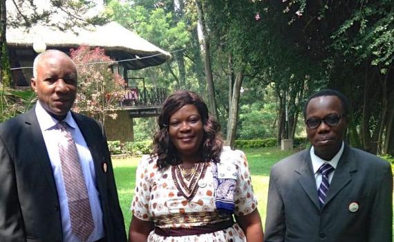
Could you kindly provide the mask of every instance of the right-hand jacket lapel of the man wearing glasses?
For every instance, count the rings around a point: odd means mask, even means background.
[[[334,198],[342,188],[350,183],[350,180],[352,180],[350,172],[353,171],[357,171],[357,165],[355,160],[350,156],[350,148],[345,145],[344,153],[339,159],[337,169],[335,169],[334,176],[330,183],[330,189],[328,190],[325,201],[326,205],[330,203],[332,198]]]

